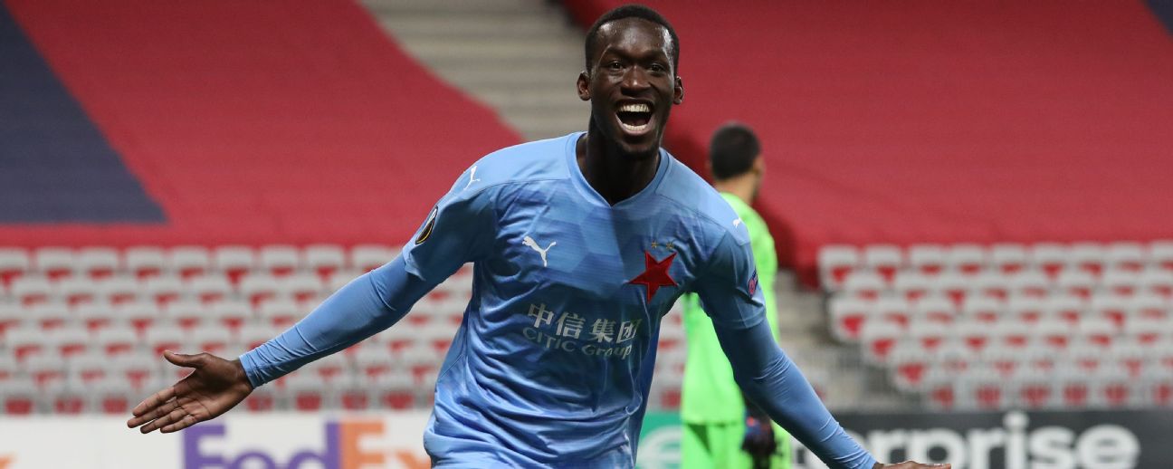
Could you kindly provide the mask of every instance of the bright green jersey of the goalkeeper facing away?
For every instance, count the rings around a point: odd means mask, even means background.
[[[741,223],[750,231],[750,247],[758,267],[758,285],[766,301],[766,319],[778,338],[778,311],[774,306],[774,274],[778,272],[778,254],[774,238],[766,223],[748,204],[732,193],[721,192],[725,202],[733,208]],[[680,395],[680,420],[685,423],[728,423],[745,421],[745,403],[741,390],[733,381],[733,368],[717,342],[713,321],[700,308],[696,294],[683,299],[684,328],[689,356],[684,367],[684,385]]]

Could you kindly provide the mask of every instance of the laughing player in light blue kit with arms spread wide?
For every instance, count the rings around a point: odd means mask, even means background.
[[[678,56],[656,12],[604,14],[577,80],[591,103],[588,131],[481,158],[399,257],[239,359],[165,353],[195,371],[127,424],[168,433],[218,416],[391,327],[472,261],[473,298],[423,435],[433,465],[633,467],[660,318],[696,291],[747,395],[829,464],[873,467],[774,342],[737,215],[660,149],[684,98]]]

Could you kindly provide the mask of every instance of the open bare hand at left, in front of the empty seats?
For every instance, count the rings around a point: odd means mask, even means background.
[[[142,426],[138,430],[144,434],[156,429],[162,433],[178,431],[219,416],[252,393],[252,383],[244,374],[240,360],[171,351],[163,352],[163,358],[171,363],[195,368],[195,372],[135,406],[131,410],[134,417],[127,421],[127,427]]]

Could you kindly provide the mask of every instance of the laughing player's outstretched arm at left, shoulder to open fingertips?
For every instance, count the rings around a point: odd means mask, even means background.
[[[206,353],[164,354],[168,361],[196,371],[143,400],[127,424],[141,426],[143,433],[169,433],[213,419],[240,403],[253,388],[399,321],[416,300],[461,265],[486,256],[493,242],[491,195],[469,190],[461,179],[440,199],[399,257],[354,279],[308,317],[239,360]]]

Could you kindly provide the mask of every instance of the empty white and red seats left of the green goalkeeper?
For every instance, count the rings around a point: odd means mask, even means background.
[[[0,414],[124,414],[187,373],[162,351],[236,356],[398,252],[327,244],[0,247],[8,266],[0,283]],[[260,388],[245,408],[430,406],[472,297],[470,273],[470,266],[457,271],[395,327]],[[683,359],[678,311],[660,338],[666,355]],[[679,382],[680,365],[658,375],[665,378],[657,389]],[[676,397],[656,405],[678,406],[678,386],[666,392]]]

